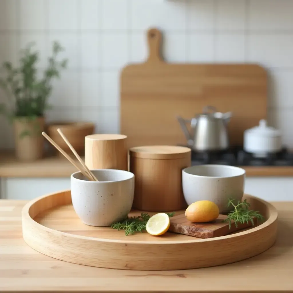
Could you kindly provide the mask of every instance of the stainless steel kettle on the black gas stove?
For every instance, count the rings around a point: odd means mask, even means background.
[[[227,124],[232,116],[231,112],[221,113],[212,106],[206,106],[203,113],[192,119],[177,119],[185,134],[188,145],[195,151],[220,151],[229,147]],[[191,131],[188,130],[190,124]]]

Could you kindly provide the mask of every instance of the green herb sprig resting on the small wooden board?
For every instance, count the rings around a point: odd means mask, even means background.
[[[251,222],[252,226],[254,226],[254,219],[257,221],[263,221],[264,217],[258,212],[254,210],[250,210],[250,204],[244,200],[243,202],[238,201],[237,204],[234,204],[235,201],[232,198],[229,198],[228,207],[231,205],[234,207],[234,210],[229,212],[228,217],[223,220],[223,222],[229,221],[229,229],[231,229],[232,221],[234,221],[236,228],[238,227],[238,223],[244,224]]]

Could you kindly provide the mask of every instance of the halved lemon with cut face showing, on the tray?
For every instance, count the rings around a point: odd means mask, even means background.
[[[146,230],[149,234],[159,236],[165,234],[170,227],[170,218],[165,213],[158,213],[149,218]]]

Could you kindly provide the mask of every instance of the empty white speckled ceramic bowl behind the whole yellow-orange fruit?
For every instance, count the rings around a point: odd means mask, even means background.
[[[214,202],[220,213],[229,212],[228,199],[241,200],[245,170],[226,165],[199,165],[182,170],[182,188],[188,205],[199,200]]]

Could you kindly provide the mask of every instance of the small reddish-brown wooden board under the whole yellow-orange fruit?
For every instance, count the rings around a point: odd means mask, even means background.
[[[180,214],[170,218],[170,228],[168,231],[197,238],[213,238],[225,236],[252,226],[251,222],[249,222],[249,224],[238,224],[236,228],[233,223],[231,229],[229,229],[229,222],[222,222],[226,217],[226,215],[220,214],[214,222],[193,223],[186,219],[185,214]]]

